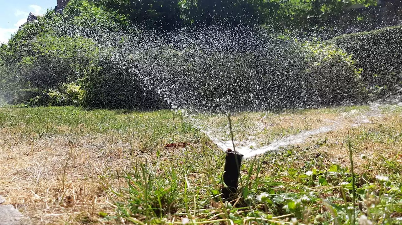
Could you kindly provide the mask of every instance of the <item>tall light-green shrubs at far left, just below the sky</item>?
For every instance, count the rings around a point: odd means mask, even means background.
[[[106,98],[109,95],[112,98],[119,90],[117,87],[127,89],[121,79],[113,80],[116,76],[99,74],[113,71],[107,69],[109,65],[105,63],[108,59],[100,62],[98,57],[100,49],[108,50],[121,41],[121,31],[125,25],[127,21],[124,15],[101,9],[86,0],[70,1],[63,14],[48,10],[37,21],[23,25],[8,44],[1,46],[3,94],[7,95],[10,103],[33,102],[35,105],[117,107],[117,104],[131,104],[113,100],[96,102],[100,96]],[[114,82],[103,84],[108,87],[114,85],[116,89],[105,87],[103,89],[108,92],[103,92],[100,88],[101,95],[91,96],[93,89],[86,92],[84,87],[88,88],[89,84],[94,83],[91,79],[94,74]],[[98,82],[102,83],[105,79]],[[92,83],[84,83],[88,80]],[[12,87],[10,84],[13,84]],[[122,90],[119,92],[122,93]],[[85,96],[86,93],[89,95]]]

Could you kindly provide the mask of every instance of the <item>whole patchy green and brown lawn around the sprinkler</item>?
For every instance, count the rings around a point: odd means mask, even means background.
[[[401,111],[233,115],[235,139],[256,148],[341,123],[243,160],[238,197],[224,202],[225,153],[200,129],[226,140],[226,117],[198,115],[193,125],[171,110],[0,108],[0,195],[33,224],[398,224]],[[356,123],[360,115],[367,121]]]

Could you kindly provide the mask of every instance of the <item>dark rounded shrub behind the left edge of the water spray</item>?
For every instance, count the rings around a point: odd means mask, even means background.
[[[104,52],[105,53],[105,52]],[[90,108],[166,108],[158,93],[129,72],[123,58],[100,56],[96,68],[82,79],[83,105]]]

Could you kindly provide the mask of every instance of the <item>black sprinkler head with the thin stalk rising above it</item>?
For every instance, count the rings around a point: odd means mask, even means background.
[[[228,125],[230,131],[230,138],[232,139],[233,150],[228,149],[225,157],[225,170],[224,170],[224,183],[226,186],[222,187],[222,199],[230,200],[237,192],[238,180],[240,177],[240,164],[242,163],[243,155],[236,152],[234,145],[232,120],[230,119],[230,112],[228,113]]]

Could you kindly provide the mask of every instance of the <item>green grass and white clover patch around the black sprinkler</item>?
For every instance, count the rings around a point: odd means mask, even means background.
[[[348,167],[324,163],[325,156],[315,159],[296,149],[266,154],[242,165],[242,193],[236,202],[224,203],[219,198],[224,162],[222,157],[211,155],[189,151],[178,163],[156,161],[148,162],[149,167],[145,163],[134,167],[125,176],[129,187],[112,189],[121,199],[117,201],[119,217],[150,224],[174,223],[173,218],[177,221],[178,217],[189,217],[195,223],[287,223],[295,217],[306,224],[351,224],[353,196]],[[299,167],[301,164],[304,166]],[[155,172],[161,168],[163,173]],[[369,174],[356,175],[356,205],[361,206],[356,207],[358,217],[367,213],[378,223],[398,222],[390,216],[402,211],[401,180],[395,173],[388,177],[381,183]],[[262,193],[267,197],[258,199]],[[371,207],[367,202],[373,202]]]

